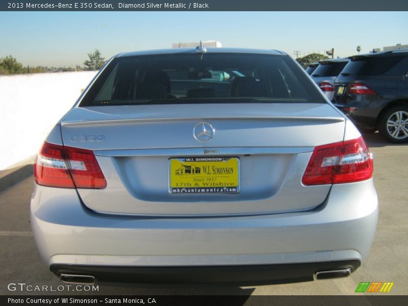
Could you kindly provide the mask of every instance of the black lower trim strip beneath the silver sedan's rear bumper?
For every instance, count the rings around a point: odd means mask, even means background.
[[[203,267],[123,267],[52,265],[61,274],[92,275],[95,283],[111,284],[239,284],[255,286],[273,283],[313,281],[316,272],[349,268],[354,272],[360,261],[338,261],[286,265],[203,266]]]

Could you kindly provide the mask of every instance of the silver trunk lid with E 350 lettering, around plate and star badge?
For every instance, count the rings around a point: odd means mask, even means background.
[[[323,115],[324,114],[324,115]],[[211,140],[194,126],[214,127]],[[303,186],[313,148],[343,140],[344,117],[328,104],[206,104],[74,108],[61,124],[64,145],[91,149],[105,189],[78,189],[103,213],[236,215],[314,208],[330,185]],[[237,159],[239,192],[169,192],[169,164],[186,157]]]

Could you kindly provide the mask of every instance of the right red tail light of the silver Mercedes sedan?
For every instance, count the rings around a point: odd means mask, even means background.
[[[373,159],[363,137],[315,147],[302,177],[303,185],[342,184],[368,180]]]

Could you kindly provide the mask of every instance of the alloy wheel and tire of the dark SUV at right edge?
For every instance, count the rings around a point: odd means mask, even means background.
[[[393,143],[408,141],[408,106],[395,106],[382,114],[378,130]]]

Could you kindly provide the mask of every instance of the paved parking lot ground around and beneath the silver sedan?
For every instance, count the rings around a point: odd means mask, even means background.
[[[143,285],[99,286],[97,292],[9,291],[9,283],[62,285],[42,263],[30,227],[33,177],[0,193],[0,294],[120,295],[352,295],[360,282],[394,282],[389,295],[408,294],[408,144],[394,145],[378,133],[365,138],[374,154],[374,182],[380,209],[369,258],[351,276],[340,279],[258,287]],[[371,294],[371,293],[365,293]],[[375,294],[375,293],[373,293]],[[378,293],[377,293],[378,294]],[[361,295],[361,293],[360,293]]]

